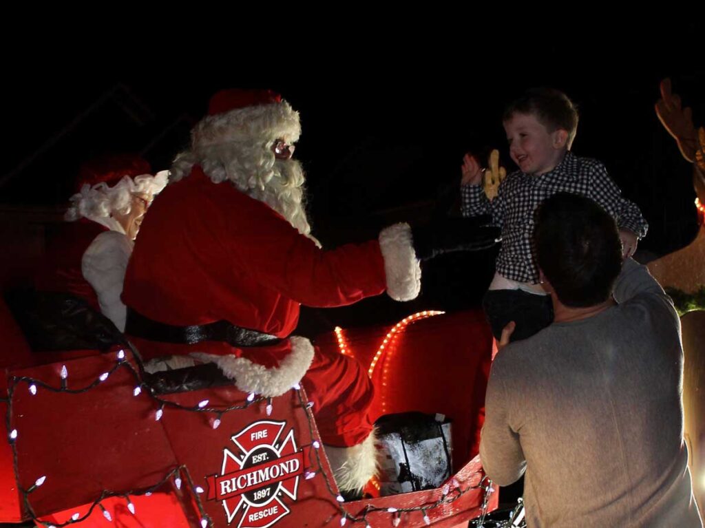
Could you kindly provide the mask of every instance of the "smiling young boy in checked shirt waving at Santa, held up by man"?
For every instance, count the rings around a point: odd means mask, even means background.
[[[534,89],[510,104],[503,116],[510,156],[519,167],[490,201],[482,188],[482,169],[465,155],[460,193],[462,215],[491,214],[502,230],[496,272],[483,306],[497,340],[510,321],[512,340],[525,339],[551,324],[551,299],[541,287],[534,262],[534,210],[547,197],[565,191],[594,199],[617,222],[624,257],[637,248],[648,225],[636,204],[624,199],[599,161],[570,152],[578,115],[570,99],[552,89]]]

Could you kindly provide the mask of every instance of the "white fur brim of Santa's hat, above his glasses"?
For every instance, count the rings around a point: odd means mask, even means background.
[[[299,113],[286,101],[259,104],[204,117],[191,131],[192,147],[200,150],[231,142],[269,144],[277,139],[295,143],[301,135]]]

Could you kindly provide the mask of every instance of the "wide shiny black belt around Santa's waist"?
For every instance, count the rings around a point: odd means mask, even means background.
[[[202,341],[221,341],[234,347],[257,347],[276,345],[281,339],[269,333],[257,330],[243,329],[228,321],[216,321],[209,324],[192,326],[173,326],[171,324],[153,321],[128,308],[125,322],[125,333],[137,338],[161,343],[193,345]]]

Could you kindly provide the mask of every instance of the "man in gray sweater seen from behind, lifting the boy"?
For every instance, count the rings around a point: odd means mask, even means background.
[[[555,319],[494,360],[487,474],[506,486],[526,473],[528,527],[702,527],[673,302],[644,266],[622,261],[613,219],[590,199],[554,195],[536,220]]]

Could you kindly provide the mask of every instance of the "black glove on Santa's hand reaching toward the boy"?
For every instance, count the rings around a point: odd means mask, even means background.
[[[419,260],[455,251],[479,251],[501,240],[500,229],[489,226],[489,216],[443,218],[412,228],[414,249]]]

